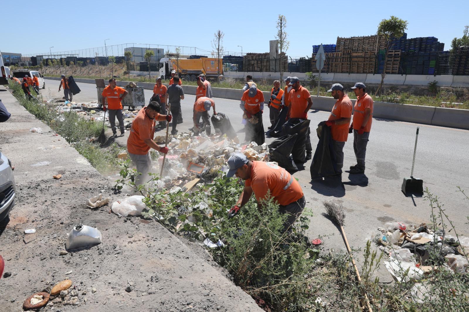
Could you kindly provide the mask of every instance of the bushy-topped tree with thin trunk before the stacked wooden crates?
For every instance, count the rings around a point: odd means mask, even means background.
[[[393,48],[393,39],[402,37],[404,35],[404,31],[407,29],[407,25],[408,21],[401,20],[400,18],[393,15],[389,19],[383,19],[381,22],[379,22],[378,39],[384,40],[386,54],[384,59],[383,72],[381,73],[381,82],[379,83],[378,89],[376,90],[376,94],[380,94],[380,92],[382,92],[384,78],[386,76],[387,54],[389,50],[392,50]]]

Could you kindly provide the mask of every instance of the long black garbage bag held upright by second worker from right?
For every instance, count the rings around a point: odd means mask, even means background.
[[[318,126],[319,142],[313,156],[310,172],[311,179],[332,177],[335,173],[335,160],[333,159],[333,140],[331,127]]]

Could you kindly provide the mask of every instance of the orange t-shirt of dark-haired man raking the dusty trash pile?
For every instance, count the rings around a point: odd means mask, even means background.
[[[158,119],[156,114],[155,119]],[[127,150],[130,154],[146,155],[150,150],[144,140],[153,139],[155,135],[155,119],[150,119],[146,115],[146,107],[138,111],[132,126],[130,127],[129,138],[127,139]]]

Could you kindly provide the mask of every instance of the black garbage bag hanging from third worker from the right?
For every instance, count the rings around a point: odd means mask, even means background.
[[[292,157],[295,163],[306,162],[306,135],[310,128],[309,119],[290,118],[282,126],[282,134],[298,134],[292,149]]]

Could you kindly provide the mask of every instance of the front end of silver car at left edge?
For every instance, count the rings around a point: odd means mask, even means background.
[[[15,191],[13,167],[7,156],[0,152],[0,221],[5,219],[15,206]]]

